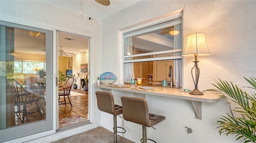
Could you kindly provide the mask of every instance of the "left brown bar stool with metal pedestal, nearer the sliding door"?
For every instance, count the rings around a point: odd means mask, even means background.
[[[96,91],[98,109],[100,111],[110,113],[114,115],[114,143],[117,142],[117,133],[125,133],[126,130],[122,127],[117,127],[116,115],[122,114],[122,106],[114,103],[114,98],[112,93]],[[117,128],[124,129],[124,132],[117,131]]]

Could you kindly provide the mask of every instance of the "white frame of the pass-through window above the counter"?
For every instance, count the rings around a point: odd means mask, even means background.
[[[144,53],[144,54],[136,54],[136,55],[124,55],[124,34],[128,33],[128,32],[134,32],[136,30],[140,30],[143,28],[147,28],[150,26],[154,26],[157,24],[161,24],[164,22],[168,22],[171,20],[174,20],[176,18],[181,18],[180,23],[177,22],[173,22],[174,25],[177,24],[181,24],[181,49],[174,49],[174,50],[166,50],[166,51],[159,51],[159,52],[150,52],[150,53]],[[173,25],[173,26],[174,26]],[[170,26],[170,25],[169,25]],[[160,29],[160,28],[159,28]],[[175,59],[181,59],[182,60],[182,67],[183,67],[183,57],[180,56],[175,56],[176,52],[182,52],[183,51],[183,9],[180,10],[176,10],[174,12],[171,12],[169,14],[166,14],[165,16],[160,16],[158,18],[153,18],[151,20],[147,20],[145,22],[141,22],[139,24],[135,24],[133,26],[128,26],[126,28],[120,29],[118,30],[118,35],[120,37],[120,40],[118,42],[118,45],[120,46],[120,56],[118,56],[118,58],[120,59],[120,81],[123,83],[124,82],[124,64],[125,63],[131,63],[131,62],[147,62],[147,61],[158,61],[158,60],[175,60]],[[157,58],[144,58],[144,59],[135,59],[135,60],[125,60],[128,58],[133,58],[133,57],[137,57],[137,56],[148,56],[148,55],[154,55],[154,54],[166,54],[166,53],[174,53],[174,56],[167,56],[167,57],[157,57]],[[181,69],[182,71],[182,77],[183,77],[183,69]],[[183,85],[183,81],[182,81],[182,85]]]

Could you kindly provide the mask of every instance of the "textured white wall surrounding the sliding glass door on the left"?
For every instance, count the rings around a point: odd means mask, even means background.
[[[37,27],[46,27],[50,29],[56,29],[64,32],[71,32],[74,34],[80,34],[82,36],[93,37],[92,38],[92,49],[90,49],[91,57],[94,60],[90,60],[90,69],[93,70],[90,75],[90,79],[94,79],[93,83],[96,83],[97,76],[100,75],[100,46],[101,46],[101,22],[94,18],[93,20],[87,20],[87,16],[80,13],[72,12],[70,10],[54,6],[48,2],[40,0],[1,0],[0,1],[0,18],[1,20],[8,20],[18,24],[27,23],[28,25],[33,24]],[[90,55],[89,55],[90,56]],[[84,62],[80,63],[84,64]],[[78,63],[79,67],[80,64]],[[78,66],[77,65],[77,66]],[[100,126],[100,111],[96,110],[97,101],[93,100],[94,93],[92,92],[93,86],[90,87],[89,95],[89,110],[94,111],[94,118],[90,118],[93,122],[90,125],[71,129],[49,135],[44,137],[45,133],[40,133],[39,139],[32,140],[32,143],[42,143],[56,141],[70,135],[81,133],[83,131]],[[98,89],[99,90],[99,89]],[[54,95],[55,97],[55,95]],[[58,101],[58,100],[57,100]],[[58,106],[58,105],[57,105]],[[95,109],[94,109],[95,108]],[[54,110],[55,107],[54,107]],[[89,111],[89,112],[90,112]],[[58,111],[57,111],[58,114]],[[91,113],[90,113],[91,114]],[[37,136],[38,137],[38,136]],[[24,140],[31,140],[34,136],[25,137]],[[23,140],[23,141],[24,141]],[[14,142],[20,142],[16,140]]]

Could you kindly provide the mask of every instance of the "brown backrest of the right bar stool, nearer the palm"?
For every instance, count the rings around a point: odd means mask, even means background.
[[[123,106],[123,117],[126,121],[148,126],[149,111],[145,99],[135,97],[121,97]]]

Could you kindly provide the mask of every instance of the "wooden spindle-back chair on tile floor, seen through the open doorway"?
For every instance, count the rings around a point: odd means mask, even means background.
[[[70,101],[70,91],[71,91],[73,83],[74,83],[74,77],[69,77],[68,80],[66,81],[66,83],[64,84],[62,91],[59,91],[59,105],[70,104],[72,107],[72,104]],[[61,96],[64,97],[64,101],[60,101]],[[66,102],[66,96],[68,97],[69,102]]]

